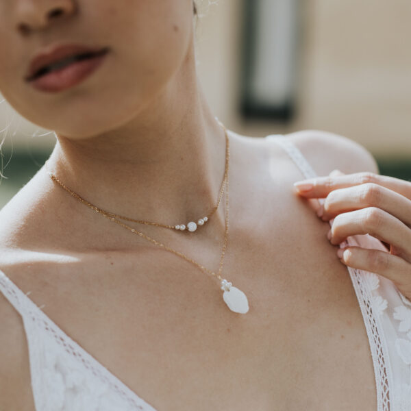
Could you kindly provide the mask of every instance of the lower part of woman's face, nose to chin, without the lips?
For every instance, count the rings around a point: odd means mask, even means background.
[[[34,55],[71,42],[110,51],[97,71],[66,90],[43,92],[25,81]],[[0,0],[0,92],[40,127],[91,136],[143,110],[190,45],[192,0]]]

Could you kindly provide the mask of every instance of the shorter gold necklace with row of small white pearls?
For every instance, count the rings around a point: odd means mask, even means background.
[[[108,214],[112,217],[116,217],[117,219],[121,219],[121,220],[133,221],[134,223],[139,223],[139,224],[156,225],[158,227],[177,229],[179,231],[184,231],[184,230],[187,229],[188,232],[195,232],[199,225],[200,226],[204,225],[204,223],[206,223],[210,219],[210,216],[212,216],[212,214],[214,214],[214,212],[216,212],[216,210],[220,206],[221,198],[223,197],[223,192],[224,192],[224,188],[225,188],[225,180],[227,178],[227,172],[228,172],[228,155],[227,155],[228,134],[227,134],[227,129],[225,128],[225,125],[223,125],[223,123],[221,123],[221,121],[219,121],[218,119],[216,119],[216,120],[221,125],[221,127],[223,127],[224,134],[225,134],[225,147],[226,147],[226,149],[225,149],[225,170],[224,170],[223,182],[221,182],[219,199],[217,200],[216,205],[212,208],[212,210],[206,216],[203,216],[201,219],[198,219],[197,223],[195,223],[194,221],[190,221],[189,223],[187,223],[187,225],[186,224],[169,225],[169,224],[163,224],[163,223],[155,223],[153,221],[130,219],[129,217],[121,216],[119,214],[114,214],[112,212],[102,210],[101,208],[98,208],[99,212]],[[49,172],[48,160],[46,161],[46,169]],[[60,182],[60,180],[57,177],[54,177],[54,179],[55,179],[56,182],[58,182],[60,185],[62,185],[62,183]],[[92,206],[94,208],[97,208],[94,205],[92,205]]]

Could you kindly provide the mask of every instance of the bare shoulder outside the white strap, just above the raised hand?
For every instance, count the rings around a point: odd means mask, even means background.
[[[286,134],[307,158],[318,175],[334,169],[345,174],[369,171],[379,174],[371,152],[351,138],[332,132],[308,129]]]

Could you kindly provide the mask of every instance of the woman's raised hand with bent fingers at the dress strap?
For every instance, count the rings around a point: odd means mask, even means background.
[[[387,243],[389,252],[350,246],[337,254],[348,266],[390,279],[411,299],[411,182],[369,172],[335,171],[297,182],[295,187],[307,199],[325,199],[317,215],[332,223],[328,236],[333,245],[356,234],[370,234]]]

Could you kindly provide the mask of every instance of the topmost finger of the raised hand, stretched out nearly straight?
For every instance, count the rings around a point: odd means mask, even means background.
[[[369,171],[336,175],[334,177],[329,175],[325,177],[314,177],[295,182],[294,186],[297,192],[304,197],[325,198],[329,192],[337,188],[358,186],[366,183],[379,184],[411,200],[411,182],[388,175],[370,173]],[[306,186],[306,189],[304,189],[304,186]]]

